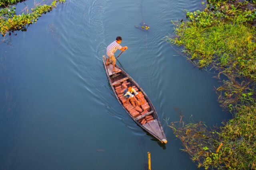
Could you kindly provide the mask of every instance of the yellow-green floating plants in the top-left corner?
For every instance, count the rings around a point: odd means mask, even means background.
[[[27,26],[36,23],[38,18],[46,12],[56,8],[57,3],[63,3],[65,0],[54,0],[49,5],[43,4],[26,9],[22,14],[16,14],[14,4],[22,0],[0,0],[0,32],[3,36],[16,30],[26,31]]]

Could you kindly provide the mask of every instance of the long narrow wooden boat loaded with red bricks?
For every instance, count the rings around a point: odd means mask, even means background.
[[[106,65],[106,57],[103,55],[103,63],[106,70],[106,74],[108,76],[108,80],[110,82],[111,88],[118,100],[118,102],[122,105],[128,115],[145,131],[150,133],[156,139],[158,139],[161,143],[167,143],[164,130],[159,121],[158,114],[156,113],[156,109],[150,102],[146,93],[142,90],[142,88],[119,66],[116,65],[118,71],[112,72],[112,64]],[[140,100],[138,95],[135,97],[138,98],[138,101],[141,103],[141,106],[138,103],[130,102],[123,97],[123,91],[127,88],[127,85],[131,84],[132,88],[136,90],[140,95],[140,98],[144,101]]]

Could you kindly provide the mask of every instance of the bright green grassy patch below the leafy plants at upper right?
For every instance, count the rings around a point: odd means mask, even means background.
[[[204,28],[183,22],[177,25],[175,33],[176,37],[166,37],[166,41],[183,46],[188,59],[198,67],[219,67],[256,80],[255,27],[221,22]]]

